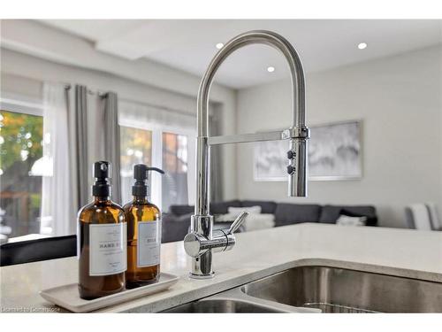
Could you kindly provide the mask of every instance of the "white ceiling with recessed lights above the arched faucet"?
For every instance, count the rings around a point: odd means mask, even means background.
[[[118,57],[150,60],[201,76],[215,55],[217,42],[252,29],[284,35],[298,50],[307,72],[382,58],[442,42],[442,20],[378,19],[239,19],[126,20],[45,19],[43,23],[95,43],[95,49]],[[358,50],[359,42],[367,42]],[[268,73],[266,68],[276,70]],[[233,53],[216,81],[234,89],[287,76],[276,50],[251,45]]]

